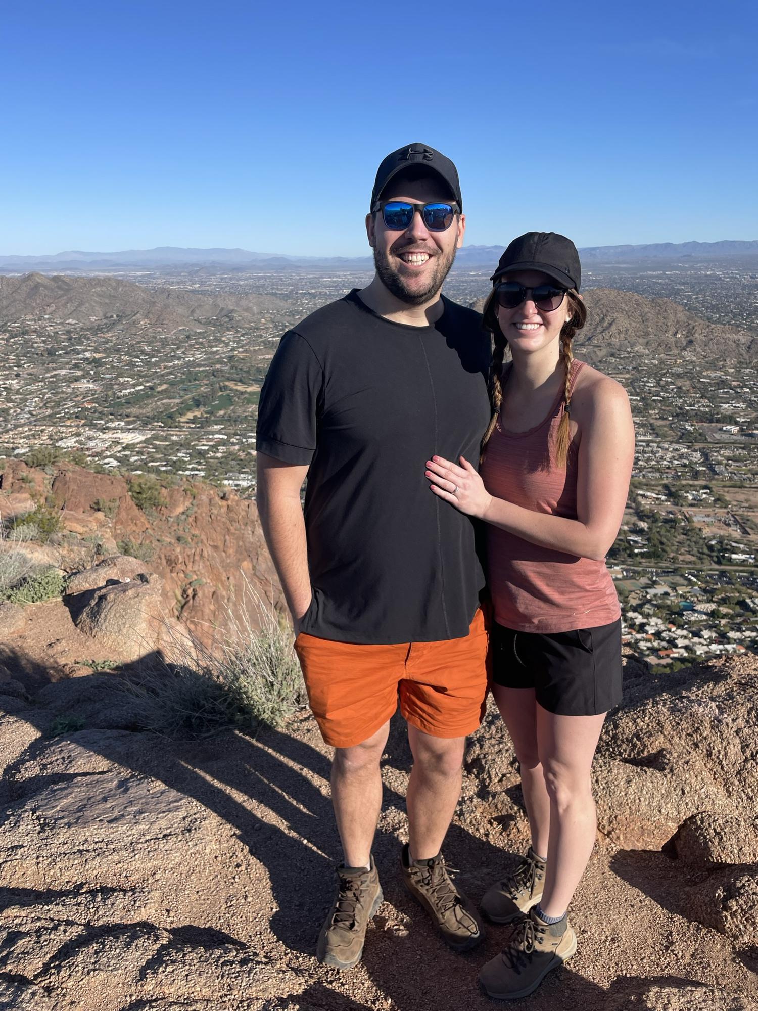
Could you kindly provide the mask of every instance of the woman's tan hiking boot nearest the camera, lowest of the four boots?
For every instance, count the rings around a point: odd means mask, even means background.
[[[510,927],[506,947],[479,973],[488,997],[514,1001],[537,990],[551,969],[576,951],[576,934],[564,916],[544,923],[533,909]]]

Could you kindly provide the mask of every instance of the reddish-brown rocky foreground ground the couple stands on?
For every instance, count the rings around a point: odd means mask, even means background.
[[[400,884],[401,721],[375,847],[385,902],[363,962],[340,974],[313,957],[338,840],[328,749],[309,715],[255,736],[137,732],[120,675],[74,662],[91,646],[65,605],[31,609],[0,660],[0,1009],[493,1006],[476,974],[504,928],[456,955]],[[71,662],[48,662],[55,648]],[[628,661],[595,761],[579,948],[524,1007],[758,1008],[756,724],[755,658],[665,676]],[[512,750],[490,710],[468,749],[448,862],[478,899],[526,844]]]

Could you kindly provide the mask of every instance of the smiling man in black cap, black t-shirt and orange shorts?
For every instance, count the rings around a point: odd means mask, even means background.
[[[452,947],[483,936],[441,848],[484,710],[484,578],[473,524],[424,478],[431,454],[478,459],[489,421],[489,340],[477,313],[440,293],[462,211],[449,159],[421,144],[388,155],[366,217],[376,276],[284,335],[261,393],[261,522],[336,748],[344,862],[317,956],[340,969],[360,960],[382,902],[371,845],[398,697],[413,754],[403,881]]]

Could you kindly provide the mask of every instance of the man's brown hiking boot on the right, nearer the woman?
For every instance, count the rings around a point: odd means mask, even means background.
[[[405,888],[423,906],[454,951],[467,951],[483,939],[484,926],[474,905],[450,880],[442,853],[431,860],[410,863],[405,843],[401,864]]]

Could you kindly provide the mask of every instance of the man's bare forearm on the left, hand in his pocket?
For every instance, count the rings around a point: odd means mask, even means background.
[[[311,599],[305,520],[300,504],[300,488],[308,465],[283,463],[258,453],[257,469],[258,514],[297,635]]]

